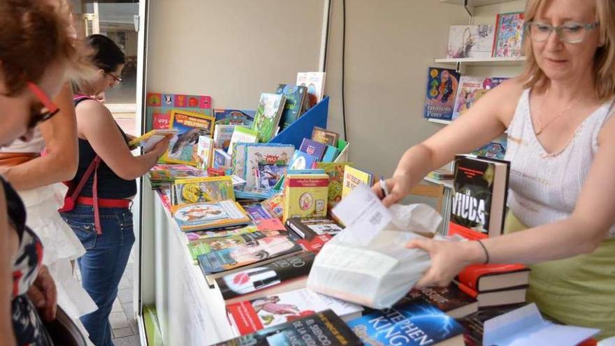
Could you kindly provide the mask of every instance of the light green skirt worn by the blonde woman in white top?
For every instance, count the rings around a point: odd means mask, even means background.
[[[508,212],[506,233],[526,228]],[[601,329],[598,339],[615,336],[615,239],[603,241],[591,254],[530,268],[528,302],[564,324]]]

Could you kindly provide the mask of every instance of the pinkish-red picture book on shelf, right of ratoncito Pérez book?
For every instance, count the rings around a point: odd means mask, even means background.
[[[457,88],[452,120],[457,119],[466,110],[468,110],[472,104],[478,101],[478,99],[480,99],[484,94],[489,92],[489,90],[498,86],[501,82],[507,79],[508,78],[484,78],[462,75],[459,80],[459,87]]]

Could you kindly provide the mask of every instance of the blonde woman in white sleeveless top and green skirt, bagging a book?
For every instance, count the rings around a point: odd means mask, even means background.
[[[431,254],[417,285],[448,284],[473,263],[531,264],[529,301],[561,322],[614,336],[615,1],[528,0],[525,18],[524,73],[407,150],[383,201],[395,203],[454,154],[507,130],[507,234],[408,244]]]

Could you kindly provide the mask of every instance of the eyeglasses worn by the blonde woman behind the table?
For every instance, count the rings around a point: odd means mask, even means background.
[[[589,31],[600,27],[599,22],[591,24],[565,22],[557,27],[541,22],[527,22],[525,25],[533,41],[547,41],[551,32],[555,31],[560,41],[565,43],[581,43],[586,38]]]

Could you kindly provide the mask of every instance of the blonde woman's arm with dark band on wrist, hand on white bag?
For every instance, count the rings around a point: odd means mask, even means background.
[[[600,131],[599,149],[581,194],[567,219],[482,240],[493,263],[533,264],[593,252],[615,224],[615,117]],[[420,286],[448,284],[461,268],[485,260],[475,242],[417,240],[408,244],[431,254],[432,266]]]

